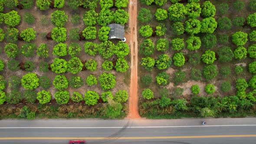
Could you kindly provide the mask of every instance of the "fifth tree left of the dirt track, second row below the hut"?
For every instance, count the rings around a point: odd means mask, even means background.
[[[68,65],[65,59],[55,58],[50,65],[53,72],[56,74],[64,73],[68,69]]]

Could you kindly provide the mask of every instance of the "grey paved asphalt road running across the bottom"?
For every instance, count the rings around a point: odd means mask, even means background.
[[[256,144],[256,118],[0,121],[0,144],[68,144],[74,139],[88,144]]]

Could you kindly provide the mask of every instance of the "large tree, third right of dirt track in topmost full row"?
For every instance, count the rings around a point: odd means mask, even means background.
[[[185,15],[187,14],[187,10],[181,3],[172,4],[171,7],[168,8],[169,11],[169,19],[177,22],[185,19]]]

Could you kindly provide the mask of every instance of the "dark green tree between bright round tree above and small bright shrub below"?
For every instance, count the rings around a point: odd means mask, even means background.
[[[203,67],[203,77],[209,81],[218,75],[217,67],[215,65],[205,65]]]

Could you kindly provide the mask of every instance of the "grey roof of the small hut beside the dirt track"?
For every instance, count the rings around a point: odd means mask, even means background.
[[[112,23],[107,25],[110,27],[110,32],[108,34],[108,39],[124,39],[125,37],[125,26],[117,23]]]

